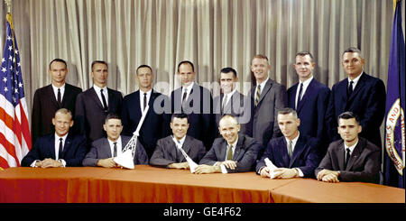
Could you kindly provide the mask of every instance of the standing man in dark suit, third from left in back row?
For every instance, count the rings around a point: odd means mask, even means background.
[[[166,135],[167,125],[163,117],[163,105],[167,104],[168,97],[152,89],[153,73],[151,67],[141,65],[136,70],[137,81],[140,89],[129,94],[123,99],[121,119],[123,122],[123,134],[132,136],[140,122],[146,106],[149,106],[148,113],[143,120],[140,129],[139,141],[143,144],[148,158],[151,159],[156,142]],[[161,102],[158,106],[156,102]]]

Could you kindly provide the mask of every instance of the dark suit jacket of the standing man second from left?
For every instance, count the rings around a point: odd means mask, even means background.
[[[80,93],[76,100],[75,124],[78,124],[80,134],[86,134],[88,143],[106,136],[103,130],[108,113],[121,114],[123,96],[121,92],[107,88],[108,110],[103,109],[100,99],[93,87]]]

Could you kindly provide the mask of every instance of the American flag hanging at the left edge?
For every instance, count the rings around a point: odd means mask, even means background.
[[[5,51],[0,66],[0,167],[18,167],[31,149],[28,108],[13,20],[7,14]]]

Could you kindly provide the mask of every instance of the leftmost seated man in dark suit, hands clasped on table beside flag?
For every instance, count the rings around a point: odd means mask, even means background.
[[[52,118],[55,133],[39,137],[21,161],[23,167],[78,167],[86,154],[86,137],[69,133],[72,113],[59,109]]]

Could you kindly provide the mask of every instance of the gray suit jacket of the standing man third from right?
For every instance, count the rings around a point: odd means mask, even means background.
[[[251,88],[253,100],[255,88]],[[287,105],[286,87],[269,78],[261,92],[258,105],[254,108],[253,137],[256,141],[266,146],[272,138],[282,135],[277,124],[277,111]]]

